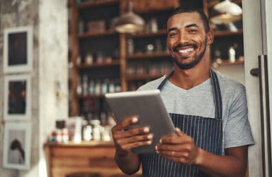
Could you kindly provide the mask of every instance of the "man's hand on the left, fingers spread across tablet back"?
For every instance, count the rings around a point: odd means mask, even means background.
[[[153,134],[150,134],[150,128],[129,128],[138,122],[137,117],[124,119],[117,123],[112,129],[113,141],[119,154],[127,154],[134,147],[150,145],[152,143]]]

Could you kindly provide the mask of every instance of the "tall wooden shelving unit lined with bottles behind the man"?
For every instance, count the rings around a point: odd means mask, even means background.
[[[211,16],[212,7],[220,2],[171,0],[166,1],[168,5],[160,5],[165,1],[156,1],[155,7],[152,5],[154,1],[134,1],[134,11],[144,18],[146,29],[132,35],[118,34],[113,29],[117,17],[126,12],[127,0],[70,0],[70,115],[82,115],[86,119],[100,119],[100,113],[110,115],[104,102],[105,92],[133,91],[169,73],[173,62],[166,47],[166,21],[171,10],[179,4],[189,5],[203,8]],[[239,0],[234,2],[241,5]],[[142,9],[143,5],[154,9]],[[243,64],[243,60],[235,63],[227,60],[228,49],[233,45],[236,46],[236,58],[243,58],[242,28],[230,32],[216,27],[214,34],[214,44],[210,47],[211,64]],[[220,63],[216,60],[218,51],[222,59]],[[87,84],[82,84],[84,80]],[[93,91],[96,88],[90,86],[93,84],[108,87],[96,93]],[[110,85],[114,88],[110,89]]]

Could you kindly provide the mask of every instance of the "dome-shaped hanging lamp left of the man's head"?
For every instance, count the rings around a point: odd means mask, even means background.
[[[133,12],[133,2],[128,1],[128,12],[122,14],[115,23],[115,30],[120,33],[136,33],[144,29],[144,19]]]

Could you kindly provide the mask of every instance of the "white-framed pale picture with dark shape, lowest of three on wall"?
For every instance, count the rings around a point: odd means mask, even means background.
[[[31,158],[31,124],[5,123],[3,167],[29,169]]]

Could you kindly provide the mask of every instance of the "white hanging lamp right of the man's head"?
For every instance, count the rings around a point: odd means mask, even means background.
[[[242,19],[242,8],[229,0],[214,5],[214,10],[220,14],[213,16],[210,21],[218,25],[229,25],[229,23]]]

